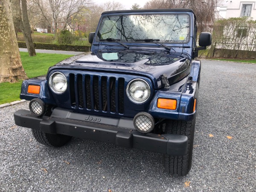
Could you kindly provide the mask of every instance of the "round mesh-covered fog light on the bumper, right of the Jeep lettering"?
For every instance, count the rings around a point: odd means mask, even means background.
[[[154,129],[154,118],[149,113],[140,112],[134,116],[134,127],[140,133],[149,133]]]

